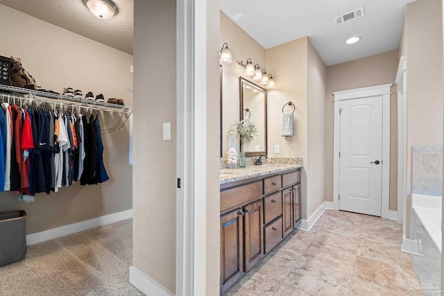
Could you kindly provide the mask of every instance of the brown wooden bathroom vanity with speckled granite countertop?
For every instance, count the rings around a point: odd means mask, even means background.
[[[296,229],[301,167],[221,169],[221,294]]]

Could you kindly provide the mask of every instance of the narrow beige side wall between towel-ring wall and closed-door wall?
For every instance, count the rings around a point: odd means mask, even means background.
[[[308,45],[307,61],[307,217],[325,201],[325,87],[327,67]]]

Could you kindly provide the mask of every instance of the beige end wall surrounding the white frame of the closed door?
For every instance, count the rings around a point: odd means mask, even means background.
[[[325,93],[325,192],[326,200],[333,201],[333,138],[334,105],[333,92],[374,85],[395,83],[398,71],[398,51],[389,51],[327,67]],[[391,88],[390,119],[390,209],[398,205],[398,107],[396,87]]]

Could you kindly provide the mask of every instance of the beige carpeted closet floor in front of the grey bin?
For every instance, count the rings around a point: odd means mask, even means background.
[[[143,295],[129,284],[133,220],[28,246],[26,259],[0,267],[0,296]]]

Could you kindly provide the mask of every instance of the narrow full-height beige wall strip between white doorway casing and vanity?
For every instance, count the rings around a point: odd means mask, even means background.
[[[219,295],[219,0],[207,0],[207,228],[206,295]],[[233,65],[234,66],[234,65]]]

